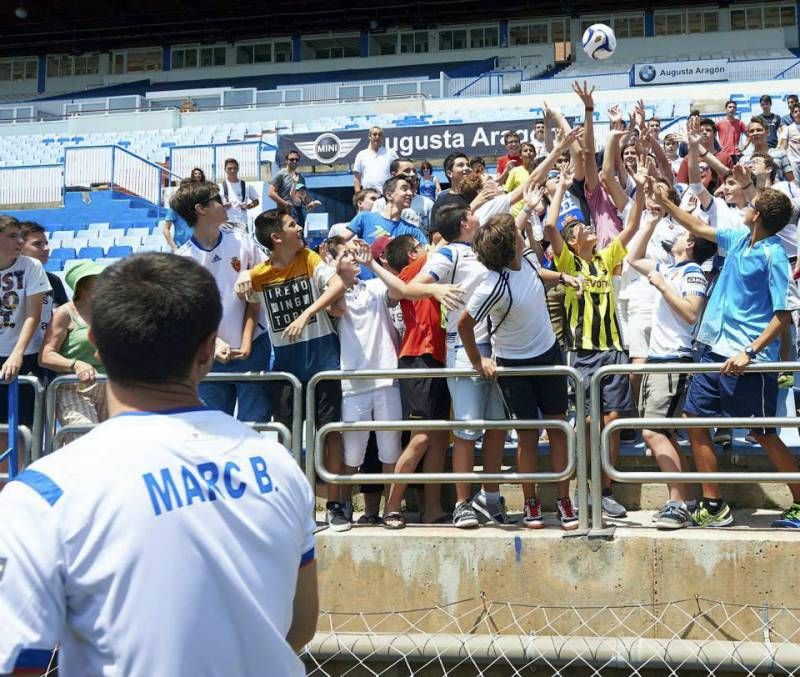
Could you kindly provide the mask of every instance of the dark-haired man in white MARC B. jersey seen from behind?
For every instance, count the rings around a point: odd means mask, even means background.
[[[202,406],[221,317],[188,258],[98,278],[111,418],[0,492],[0,673],[58,644],[64,677],[305,674],[314,498],[284,447]]]

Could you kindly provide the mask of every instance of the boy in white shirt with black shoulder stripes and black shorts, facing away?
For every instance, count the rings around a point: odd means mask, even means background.
[[[485,379],[495,376],[495,362],[481,353],[476,327],[487,320],[494,338],[494,353],[501,367],[563,364],[561,349],[547,310],[546,283],[578,287],[575,278],[545,270],[536,255],[525,249],[522,234],[510,214],[493,216],[475,234],[472,246],[478,260],[489,269],[475,289],[458,322],[458,333],[472,366]],[[565,376],[507,376],[499,378],[506,404],[518,419],[567,418]],[[536,472],[537,430],[517,430],[517,468]],[[558,428],[548,429],[554,470],[567,464],[567,440]],[[569,500],[569,480],[559,482],[556,510],[563,529],[575,529],[578,518]],[[523,524],[540,529],[542,504],[531,483],[522,485],[525,497]]]

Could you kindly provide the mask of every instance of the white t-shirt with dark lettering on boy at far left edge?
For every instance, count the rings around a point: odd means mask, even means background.
[[[50,290],[44,267],[30,256],[18,256],[8,268],[0,270],[0,355],[8,357],[17,345],[28,297]],[[37,351],[28,344],[25,354]]]

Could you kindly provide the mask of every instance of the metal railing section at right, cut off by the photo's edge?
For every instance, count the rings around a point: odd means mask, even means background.
[[[781,426],[800,426],[800,417],[797,416],[768,416],[768,417],[710,417],[710,418],[620,418],[607,426],[602,426],[603,420],[603,399],[600,388],[603,379],[615,374],[699,374],[719,372],[721,363],[702,362],[671,362],[661,364],[620,364],[607,365],[600,367],[594,374],[589,387],[589,400],[591,402],[591,423],[590,423],[590,443],[591,443],[591,483],[592,483],[592,529],[601,530],[603,528],[602,519],[602,495],[600,486],[602,483],[601,472],[605,472],[608,477],[615,482],[625,482],[629,484],[643,484],[645,482],[674,482],[674,483],[697,483],[697,482],[724,482],[730,484],[748,484],[754,482],[765,483],[786,483],[800,482],[800,472],[620,472],[611,463],[611,436],[623,428],[659,430],[664,428],[752,428],[752,427],[781,427]],[[755,363],[749,365],[746,373],[761,372],[794,372],[800,369],[797,362],[769,362]],[[581,505],[586,505],[582,503]],[[585,511],[581,511],[585,512]]]

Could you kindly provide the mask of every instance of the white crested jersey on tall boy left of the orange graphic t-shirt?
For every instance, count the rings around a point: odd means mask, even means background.
[[[217,244],[211,249],[204,249],[192,236],[178,248],[176,253],[194,259],[214,276],[222,299],[222,321],[219,323],[217,336],[231,348],[240,348],[247,301],[241,301],[234,293],[233,287],[241,271],[254,268],[264,261],[264,256],[256,247],[255,240],[239,231],[224,230],[220,231]],[[253,338],[263,334],[266,327],[264,308],[259,305],[258,325]],[[264,368],[267,368],[266,365]]]

